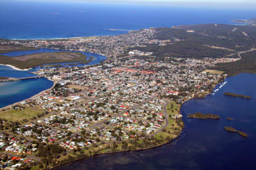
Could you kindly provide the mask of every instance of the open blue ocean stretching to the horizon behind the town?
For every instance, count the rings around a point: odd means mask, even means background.
[[[59,13],[57,15],[53,13]],[[71,2],[0,1],[0,38],[49,39],[117,35],[149,27],[180,24],[228,23],[255,18],[253,9],[100,5]]]

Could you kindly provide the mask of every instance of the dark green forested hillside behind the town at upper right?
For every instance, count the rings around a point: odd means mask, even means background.
[[[173,28],[154,28],[152,39],[171,42],[164,46],[148,44],[147,47],[133,47],[144,52],[153,52],[159,60],[164,57],[224,57],[238,51],[255,48],[255,26],[234,26],[228,24],[198,24]]]

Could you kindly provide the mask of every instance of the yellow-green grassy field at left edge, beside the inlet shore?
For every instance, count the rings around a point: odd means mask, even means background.
[[[42,113],[42,111],[32,109],[10,109],[7,111],[1,111],[0,118],[4,118],[10,121],[22,121],[23,119],[31,119],[34,116],[36,117],[38,113]]]

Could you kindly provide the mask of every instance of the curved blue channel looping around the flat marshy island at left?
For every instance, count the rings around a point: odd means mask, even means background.
[[[61,52],[61,51],[78,52],[78,51],[70,51],[70,50],[40,48],[40,49],[30,50],[30,51],[14,51],[14,52],[2,53],[1,55],[16,57],[16,56],[30,55],[30,54],[34,54],[34,53]],[[107,59],[107,57],[102,56],[102,55],[98,55],[96,53],[90,53],[90,52],[80,52],[80,53],[83,53],[85,56],[87,56],[88,57],[87,60],[90,59],[89,57],[94,57],[95,59],[90,61],[90,63],[78,64],[77,66],[98,64],[98,63],[100,63],[101,60]],[[1,57],[0,57],[0,59],[1,59]],[[65,65],[65,64],[69,64],[69,63],[57,63],[57,64]],[[47,64],[44,64],[44,65],[47,65]],[[38,68],[39,67],[35,67],[34,69],[31,69],[30,71],[35,71]]]

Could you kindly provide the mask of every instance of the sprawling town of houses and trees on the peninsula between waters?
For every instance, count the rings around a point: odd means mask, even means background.
[[[108,56],[96,65],[44,67],[51,89],[0,111],[0,168],[53,168],[118,151],[161,146],[184,127],[180,107],[211,94],[227,76],[211,69],[240,58],[165,57],[129,48],[159,46],[155,29],[67,40],[1,40],[1,45],[87,51]]]

